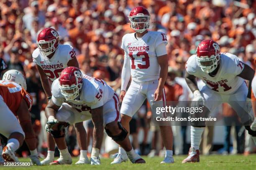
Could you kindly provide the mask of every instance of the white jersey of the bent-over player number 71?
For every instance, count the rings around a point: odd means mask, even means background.
[[[242,72],[244,64],[236,55],[228,52],[220,54],[220,67],[215,77],[211,77],[201,70],[196,57],[196,55],[192,55],[187,60],[187,72],[200,78],[215,92],[225,95],[232,94],[242,83],[245,83],[243,78],[237,76]]]

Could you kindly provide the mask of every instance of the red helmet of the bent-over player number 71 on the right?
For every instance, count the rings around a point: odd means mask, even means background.
[[[220,46],[213,40],[203,40],[197,47],[197,62],[202,71],[210,73],[220,63]]]

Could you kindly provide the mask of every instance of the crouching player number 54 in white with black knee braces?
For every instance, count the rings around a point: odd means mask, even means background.
[[[63,104],[64,103],[64,104]],[[119,98],[104,80],[82,75],[77,67],[67,67],[52,84],[52,98],[46,107],[48,122],[46,131],[54,134],[60,150],[67,148],[64,127],[92,118],[94,123],[91,165],[100,165],[99,152],[103,138],[103,127],[116,143],[125,148],[132,163],[145,162],[131,148],[128,132],[120,123]],[[72,158],[63,152],[65,163]],[[54,163],[62,164],[56,160]]]

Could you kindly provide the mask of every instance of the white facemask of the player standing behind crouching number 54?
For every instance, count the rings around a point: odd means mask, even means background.
[[[55,43],[55,39],[51,41],[40,40],[39,42],[36,42],[37,47],[43,56],[48,56],[56,50],[54,47]]]

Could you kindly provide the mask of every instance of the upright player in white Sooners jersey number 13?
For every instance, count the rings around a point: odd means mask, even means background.
[[[146,8],[138,6],[131,10],[128,16],[131,28],[135,33],[123,36],[121,48],[124,50],[124,65],[120,100],[121,123],[129,130],[129,122],[135,112],[147,98],[152,105],[153,101],[165,103],[164,83],[167,77],[168,59],[166,52],[167,39],[163,32],[148,31],[150,15]],[[132,77],[131,85],[126,92],[128,82]],[[172,157],[172,128],[160,126],[161,135],[166,148],[165,158],[161,163],[174,163]],[[112,162],[121,163],[127,160],[123,148]]]

